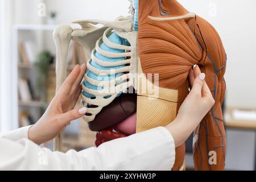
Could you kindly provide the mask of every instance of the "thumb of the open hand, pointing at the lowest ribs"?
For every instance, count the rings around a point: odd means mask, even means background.
[[[60,119],[62,122],[64,122],[66,124],[72,120],[81,118],[86,113],[86,110],[87,110],[86,107],[81,107],[80,109],[70,110],[67,113],[61,114]]]

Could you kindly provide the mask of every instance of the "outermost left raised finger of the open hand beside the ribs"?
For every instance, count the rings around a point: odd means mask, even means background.
[[[60,94],[63,94],[63,93],[69,94],[79,74],[80,74],[80,67],[79,65],[76,65],[75,68],[73,68],[72,72],[69,74],[69,76],[66,78],[66,80],[63,82],[63,85],[61,85]]]

